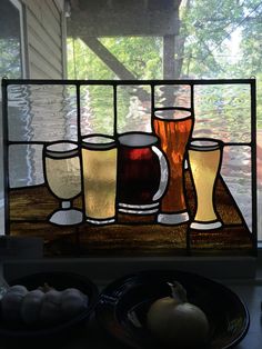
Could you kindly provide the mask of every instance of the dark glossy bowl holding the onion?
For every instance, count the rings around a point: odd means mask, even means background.
[[[95,308],[100,326],[130,348],[164,349],[147,328],[147,312],[154,300],[170,296],[167,282],[174,280],[185,288],[188,300],[200,307],[209,319],[205,348],[233,348],[244,338],[250,317],[241,299],[219,282],[178,270],[143,271],[110,283]]]

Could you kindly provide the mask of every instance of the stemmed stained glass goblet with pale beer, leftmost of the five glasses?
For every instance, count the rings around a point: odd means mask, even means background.
[[[44,178],[49,190],[60,201],[49,221],[59,226],[82,222],[82,211],[72,207],[81,192],[80,157],[78,144],[59,141],[43,147]]]

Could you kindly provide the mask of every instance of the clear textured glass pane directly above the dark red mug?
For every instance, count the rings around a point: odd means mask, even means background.
[[[118,87],[118,132],[151,132],[151,130],[150,87]]]

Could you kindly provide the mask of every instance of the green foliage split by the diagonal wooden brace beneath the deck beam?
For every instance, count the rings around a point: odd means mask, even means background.
[[[161,38],[102,38],[101,43],[125,66],[137,79],[161,78]],[[117,79],[80,39],[68,39],[68,76],[77,79]]]

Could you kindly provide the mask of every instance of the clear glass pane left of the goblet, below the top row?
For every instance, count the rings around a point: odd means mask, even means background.
[[[44,182],[42,146],[13,144],[9,147],[10,188],[30,187]]]

